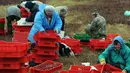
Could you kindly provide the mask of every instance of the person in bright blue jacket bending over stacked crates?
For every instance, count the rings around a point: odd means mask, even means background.
[[[54,30],[59,33],[61,27],[62,21],[60,19],[59,14],[56,12],[53,6],[47,5],[43,9],[43,11],[40,10],[39,12],[37,12],[34,19],[34,25],[32,26],[28,35],[28,40],[32,43],[33,47],[36,44],[36,41],[33,37],[37,32],[46,32],[46,30]]]

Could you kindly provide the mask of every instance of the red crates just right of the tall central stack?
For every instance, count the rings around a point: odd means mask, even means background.
[[[68,45],[75,54],[80,54],[82,52],[82,48],[80,47],[80,40],[66,38],[62,39],[61,42]]]

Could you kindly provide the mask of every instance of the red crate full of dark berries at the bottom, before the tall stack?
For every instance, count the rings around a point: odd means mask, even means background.
[[[62,69],[62,63],[47,60],[31,68],[31,73],[54,73]]]

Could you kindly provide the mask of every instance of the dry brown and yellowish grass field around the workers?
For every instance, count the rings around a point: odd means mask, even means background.
[[[107,20],[107,33],[118,33],[125,40],[130,36],[125,10],[129,10],[130,0],[47,0],[47,4],[54,6],[66,5],[69,8],[66,17],[65,31],[70,33],[84,33],[85,26],[92,20],[91,13],[96,8]],[[5,16],[7,6],[0,6],[0,17]],[[83,53],[75,57],[60,57],[58,61],[63,62],[64,69],[70,65],[90,62],[97,63],[97,57],[101,51],[90,51],[88,47],[82,47]]]

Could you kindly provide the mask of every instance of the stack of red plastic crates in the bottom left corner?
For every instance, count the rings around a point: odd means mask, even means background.
[[[27,73],[28,48],[28,43],[0,42],[0,73]]]

